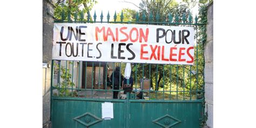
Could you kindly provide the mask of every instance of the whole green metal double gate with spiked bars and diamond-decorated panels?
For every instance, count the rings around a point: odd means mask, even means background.
[[[152,21],[152,15],[145,14],[136,22],[120,22],[114,14],[114,22],[100,22],[87,14],[71,21],[62,15],[62,21],[56,23],[124,23],[193,26],[198,42],[198,23],[192,16],[179,18],[170,14],[167,19]],[[65,21],[65,19],[68,21]],[[93,21],[91,20],[93,18]],[[187,20],[188,19],[188,20]],[[142,92],[142,99],[127,93],[126,99],[113,99],[113,91],[122,93],[122,89],[113,90],[108,86],[108,76],[116,66],[124,70],[124,63],[82,62],[52,60],[51,75],[51,122],[52,127],[201,127],[205,122],[204,112],[204,53],[203,44],[196,43],[194,65],[132,64],[134,92]],[[120,72],[121,75],[121,72]],[[144,86],[144,78],[150,81],[150,90],[139,90]],[[159,80],[160,79],[160,80]],[[113,83],[113,81],[112,81]],[[119,83],[120,85],[122,83]],[[113,103],[114,118],[102,119],[101,105]]]

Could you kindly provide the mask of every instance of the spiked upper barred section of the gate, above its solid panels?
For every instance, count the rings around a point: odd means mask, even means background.
[[[143,64],[132,63],[133,93],[142,95],[140,100],[198,100],[204,98],[204,52],[203,44],[198,43],[198,26],[205,23],[198,23],[198,18],[191,14],[183,14],[182,17],[169,14],[167,18],[156,16],[141,16],[137,13],[135,21],[124,22],[123,12],[120,21],[116,13],[113,21],[107,13],[107,21],[103,21],[103,13],[100,21],[96,21],[96,12],[91,17],[87,13],[73,14],[71,17],[63,13],[61,20],[56,23],[122,23],[122,24],[151,24],[151,25],[174,25],[192,26],[196,32],[194,44],[194,65],[170,65],[170,64]],[[119,95],[124,90],[119,88],[114,90],[111,85],[114,79],[109,79],[116,66],[120,67],[119,85],[122,86],[121,77],[124,73],[125,63],[106,63],[106,62],[83,62],[70,60],[52,60],[52,97],[76,97],[76,98],[98,98],[112,99],[113,92],[118,91]],[[144,89],[145,82],[149,83],[149,89]],[[119,97],[120,98],[120,97]]]

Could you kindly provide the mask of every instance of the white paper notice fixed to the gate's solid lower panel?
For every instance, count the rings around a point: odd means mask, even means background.
[[[114,118],[113,114],[113,103],[102,103],[102,118],[110,119]]]

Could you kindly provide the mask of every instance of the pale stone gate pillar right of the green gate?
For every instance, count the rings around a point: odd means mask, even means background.
[[[205,111],[208,112],[207,126],[213,127],[213,3],[207,9],[207,40],[204,46],[205,56]]]

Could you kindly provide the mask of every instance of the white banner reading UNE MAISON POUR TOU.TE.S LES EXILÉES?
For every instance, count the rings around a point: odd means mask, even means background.
[[[194,29],[186,26],[55,23],[52,59],[193,65]]]

